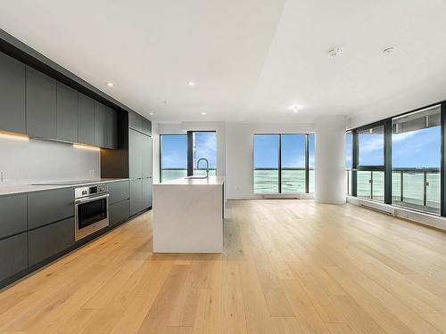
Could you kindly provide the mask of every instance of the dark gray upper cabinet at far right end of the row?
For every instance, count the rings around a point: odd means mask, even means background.
[[[118,114],[100,102],[95,102],[95,145],[118,148]]]

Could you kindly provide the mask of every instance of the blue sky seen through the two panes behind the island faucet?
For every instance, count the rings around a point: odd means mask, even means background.
[[[217,165],[217,137],[215,132],[194,133],[194,167],[200,158],[209,160],[209,167]],[[200,167],[205,167],[204,161]],[[161,168],[187,169],[187,134],[161,135]]]

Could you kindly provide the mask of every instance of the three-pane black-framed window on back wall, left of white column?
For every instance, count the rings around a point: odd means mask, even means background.
[[[314,134],[254,134],[256,193],[314,191]]]

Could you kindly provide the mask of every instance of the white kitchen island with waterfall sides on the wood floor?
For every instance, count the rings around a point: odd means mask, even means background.
[[[221,253],[225,178],[153,184],[153,252]]]

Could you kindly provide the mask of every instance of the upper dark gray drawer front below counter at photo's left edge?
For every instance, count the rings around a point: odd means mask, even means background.
[[[0,197],[0,239],[27,230],[27,194]]]

